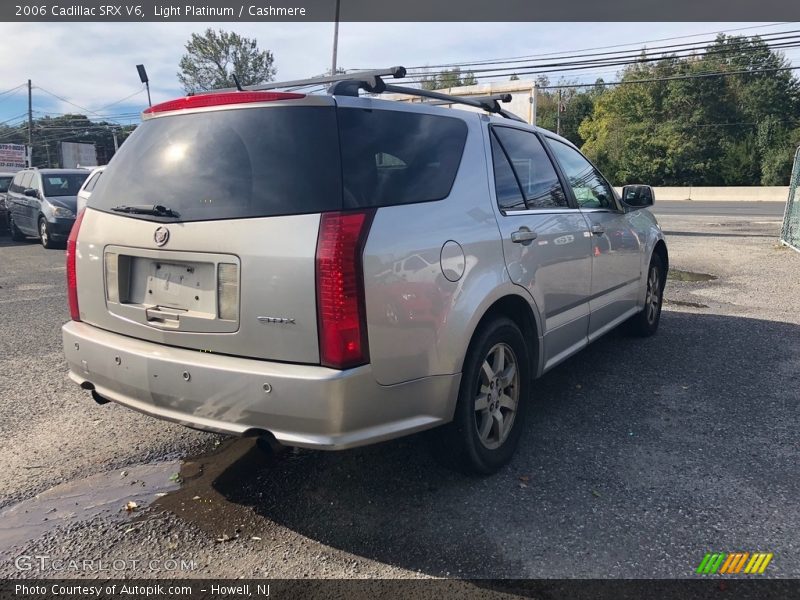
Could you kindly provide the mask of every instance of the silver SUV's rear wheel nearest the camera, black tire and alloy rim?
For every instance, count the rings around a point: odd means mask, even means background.
[[[496,472],[519,443],[529,385],[529,350],[519,327],[505,317],[486,323],[467,352],[453,422],[432,432],[437,454],[465,472]]]

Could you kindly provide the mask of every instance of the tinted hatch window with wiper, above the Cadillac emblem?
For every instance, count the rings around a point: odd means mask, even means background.
[[[158,117],[142,123],[120,147],[88,205],[109,211],[161,204],[181,221],[337,210],[338,147],[334,107]]]

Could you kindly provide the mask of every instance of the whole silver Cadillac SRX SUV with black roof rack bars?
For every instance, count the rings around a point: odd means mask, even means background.
[[[622,323],[655,333],[668,259],[649,187],[621,198],[495,98],[380,75],[146,110],[68,242],[70,378],[289,446],[444,425],[440,450],[490,473],[537,377]]]

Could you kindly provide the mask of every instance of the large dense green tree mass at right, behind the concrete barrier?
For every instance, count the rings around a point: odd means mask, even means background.
[[[583,150],[619,184],[785,184],[800,125],[787,64],[758,37],[719,36],[631,65],[579,126]]]

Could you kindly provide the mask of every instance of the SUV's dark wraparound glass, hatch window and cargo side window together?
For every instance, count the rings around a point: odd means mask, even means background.
[[[439,200],[450,193],[466,137],[460,119],[386,110],[159,117],[125,141],[88,204],[106,211],[160,204],[180,221],[200,221]]]

